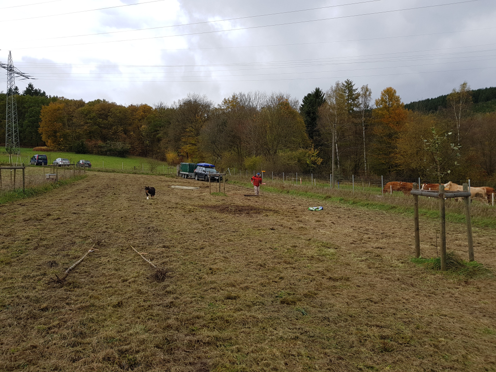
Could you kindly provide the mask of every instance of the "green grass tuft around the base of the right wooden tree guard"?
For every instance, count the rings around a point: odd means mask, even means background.
[[[441,258],[412,258],[412,262],[424,266],[427,270],[441,270]],[[477,261],[468,262],[462,259],[457,253],[446,252],[446,272],[467,279],[488,277],[493,272]]]

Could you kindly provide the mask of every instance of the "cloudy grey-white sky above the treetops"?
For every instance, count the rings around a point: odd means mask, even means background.
[[[12,51],[35,87],[85,101],[301,101],[350,78],[409,103],[496,86],[495,20],[495,0],[0,0],[0,62]]]

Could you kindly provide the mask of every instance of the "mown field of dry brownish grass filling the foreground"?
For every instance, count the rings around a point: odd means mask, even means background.
[[[0,371],[496,371],[495,279],[413,264],[411,218],[226,191],[89,172],[0,205]],[[464,225],[447,246],[468,257]],[[474,250],[496,272],[495,231]]]

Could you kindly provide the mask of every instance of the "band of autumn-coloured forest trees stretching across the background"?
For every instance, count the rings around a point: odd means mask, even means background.
[[[16,94],[21,146],[101,155],[207,161],[274,172],[384,175],[496,183],[496,88],[452,92],[405,105],[396,90],[372,99],[350,79],[315,88],[302,102],[284,93],[240,92],[220,104],[191,93],[171,105],[118,105]],[[0,93],[5,133],[6,94]],[[4,141],[4,138],[0,139]]]

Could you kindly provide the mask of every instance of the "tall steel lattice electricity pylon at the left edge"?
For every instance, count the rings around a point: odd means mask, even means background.
[[[7,70],[7,122],[5,123],[5,151],[8,153],[8,162],[13,164],[12,154],[19,158],[19,124],[17,123],[17,102],[15,99],[15,75],[21,80],[31,79],[31,76],[19,71],[12,63],[12,53],[8,52],[7,64],[0,62],[0,67]],[[17,163],[17,161],[16,161]]]

